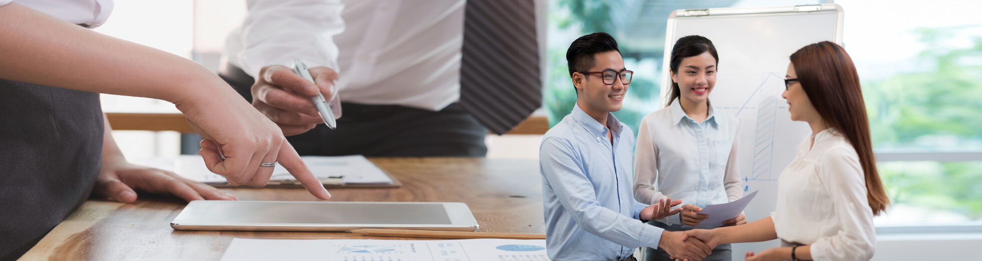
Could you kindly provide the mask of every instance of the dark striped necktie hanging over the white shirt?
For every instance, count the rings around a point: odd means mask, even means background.
[[[542,106],[532,0],[467,0],[461,106],[503,134]]]

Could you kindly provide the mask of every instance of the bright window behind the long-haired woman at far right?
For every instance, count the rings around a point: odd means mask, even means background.
[[[877,225],[982,221],[976,1],[836,1],[893,206]]]

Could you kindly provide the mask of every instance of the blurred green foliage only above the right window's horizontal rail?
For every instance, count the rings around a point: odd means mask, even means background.
[[[917,28],[928,48],[909,64],[927,70],[863,80],[875,148],[982,149],[982,35],[952,46],[968,28]]]

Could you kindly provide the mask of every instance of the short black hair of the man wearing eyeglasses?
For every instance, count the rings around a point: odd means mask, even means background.
[[[566,62],[570,68],[570,77],[573,73],[589,71],[596,63],[593,55],[596,53],[617,51],[617,40],[607,32],[594,32],[579,36],[570,44],[570,49],[566,51]]]

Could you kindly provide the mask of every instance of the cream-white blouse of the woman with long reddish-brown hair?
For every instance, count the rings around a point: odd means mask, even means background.
[[[811,245],[813,260],[873,257],[876,232],[866,180],[859,156],[838,131],[822,130],[801,141],[778,178],[778,195],[774,230],[781,239]]]

